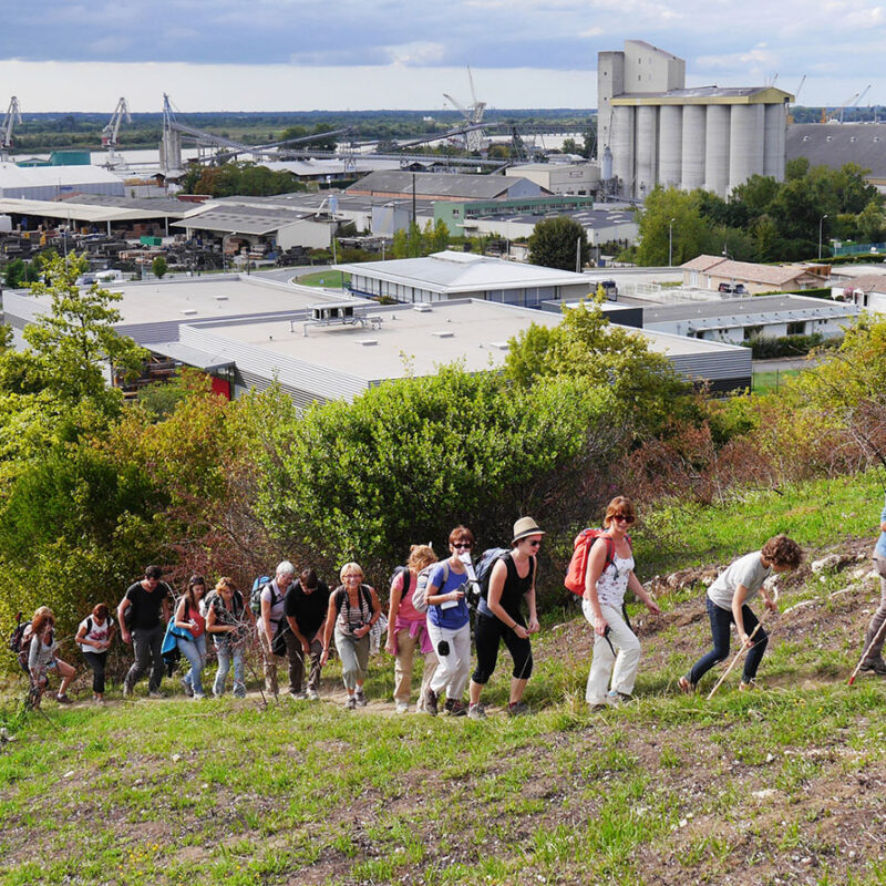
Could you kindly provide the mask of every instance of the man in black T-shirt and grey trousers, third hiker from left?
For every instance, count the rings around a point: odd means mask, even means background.
[[[124,698],[132,694],[135,683],[147,671],[148,666],[151,678],[147,683],[147,694],[151,698],[163,698],[159,689],[163,679],[161,648],[163,622],[168,621],[172,614],[172,591],[165,581],[161,581],[162,576],[163,569],[159,566],[148,566],[145,569],[145,577],[126,589],[126,596],[117,607],[120,636],[124,643],[132,642],[135,651],[135,661],[123,679]]]

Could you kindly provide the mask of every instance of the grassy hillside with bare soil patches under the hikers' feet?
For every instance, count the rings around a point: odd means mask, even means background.
[[[485,722],[393,714],[389,657],[350,713],[336,666],[319,703],[114,691],[105,709],[47,701],[22,719],[10,701],[0,883],[884,883],[886,684],[846,687],[878,598],[880,502],[868,475],[661,512],[638,532],[643,578],[653,548],[671,552],[659,571],[722,564],[785,527],[845,555],[782,580],[756,693],[735,672],[711,701],[677,691],[709,640],[702,569],[688,569],[661,616],[635,615],[637,698],[602,714],[584,702],[591,636],[575,609],[535,643],[534,715],[517,720],[501,710],[506,653]]]

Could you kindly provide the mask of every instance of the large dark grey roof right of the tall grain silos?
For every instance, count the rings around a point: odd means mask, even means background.
[[[813,166],[838,169],[857,163],[872,178],[886,178],[886,125],[876,123],[794,123],[787,127],[787,159],[806,157]]]

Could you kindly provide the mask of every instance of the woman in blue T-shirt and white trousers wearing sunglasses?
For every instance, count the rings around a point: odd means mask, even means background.
[[[427,636],[436,652],[437,666],[422,701],[424,712],[436,715],[440,698],[446,696],[450,717],[464,717],[462,700],[471,674],[471,614],[464,596],[467,571],[462,554],[471,554],[474,534],[466,526],[450,533],[449,559],[437,564],[427,579]]]

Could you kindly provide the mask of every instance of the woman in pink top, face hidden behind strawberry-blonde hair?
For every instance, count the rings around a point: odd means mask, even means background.
[[[424,693],[436,670],[437,659],[427,636],[427,620],[412,605],[419,573],[437,562],[430,545],[413,545],[405,567],[398,570],[391,583],[391,601],[388,612],[388,642],[385,649],[394,657],[394,702],[396,712],[409,710],[412,694],[412,661],[418,649],[424,657],[422,688],[419,693],[419,710],[424,708]]]

